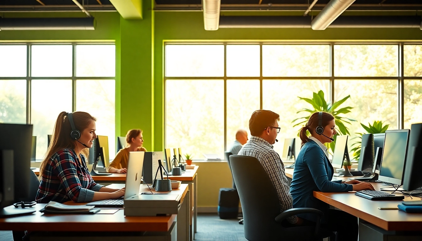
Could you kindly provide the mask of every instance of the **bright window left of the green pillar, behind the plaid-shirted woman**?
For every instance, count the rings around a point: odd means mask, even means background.
[[[0,45],[0,122],[32,124],[41,161],[60,112],[86,111],[113,158],[115,52],[113,44]]]

